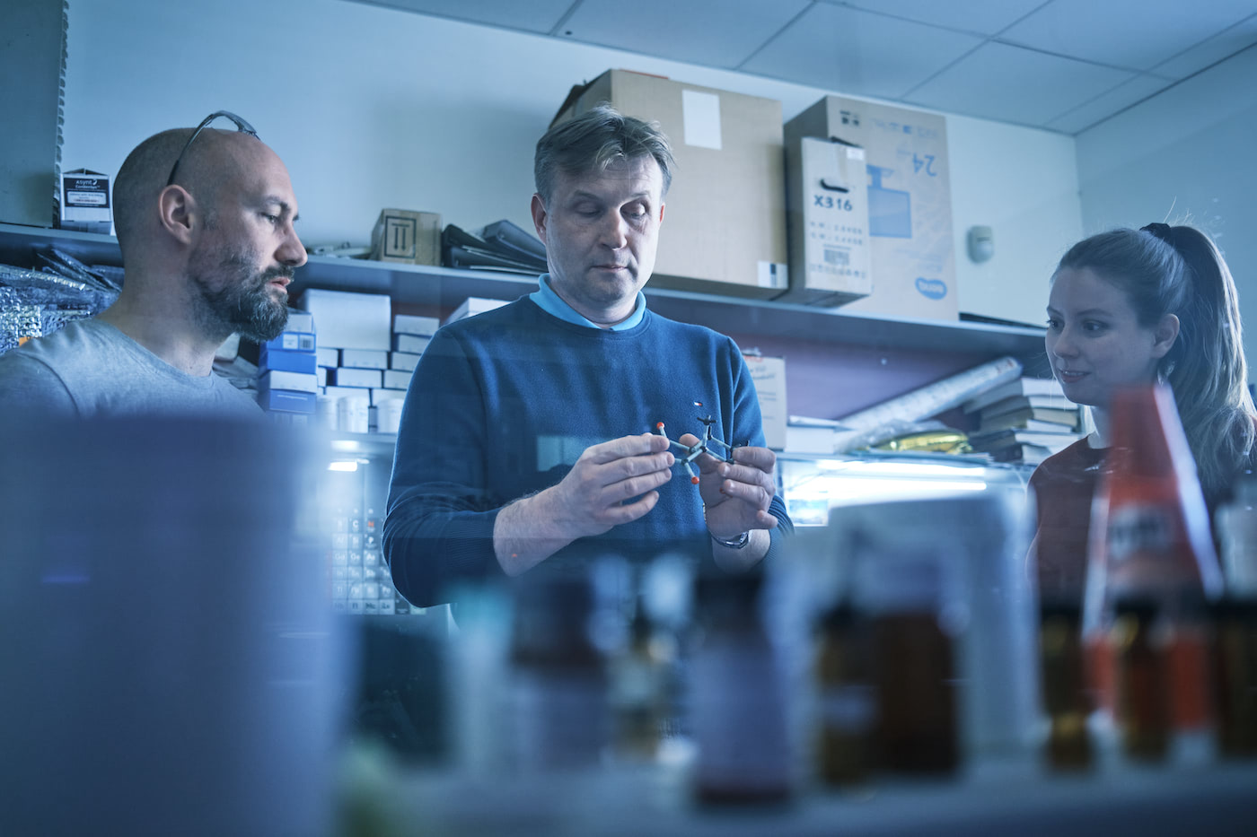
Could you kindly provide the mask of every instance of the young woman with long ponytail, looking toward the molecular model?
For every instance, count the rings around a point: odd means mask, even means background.
[[[1236,283],[1218,248],[1194,227],[1149,224],[1075,244],[1052,275],[1047,314],[1052,372],[1067,398],[1091,407],[1096,427],[1031,478],[1040,591],[1072,598],[1086,576],[1091,496],[1114,388],[1170,385],[1210,510],[1251,466],[1257,410]]]

